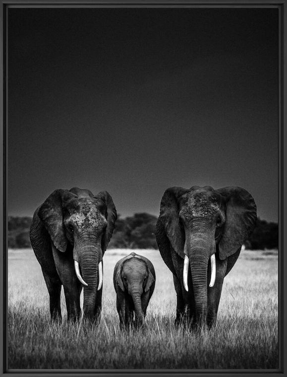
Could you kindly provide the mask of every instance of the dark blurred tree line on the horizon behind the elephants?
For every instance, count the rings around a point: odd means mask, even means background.
[[[29,229],[31,217],[8,216],[8,248],[31,247]],[[137,213],[126,218],[118,218],[109,248],[157,249],[155,237],[157,217],[147,213]],[[278,249],[279,230],[277,223],[257,219],[252,235],[244,242],[246,249]]]

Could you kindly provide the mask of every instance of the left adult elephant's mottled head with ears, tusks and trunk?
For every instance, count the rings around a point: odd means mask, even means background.
[[[73,254],[75,271],[84,287],[84,314],[92,316],[102,286],[102,258],[113,234],[115,205],[107,191],[55,190],[40,206],[52,247]]]

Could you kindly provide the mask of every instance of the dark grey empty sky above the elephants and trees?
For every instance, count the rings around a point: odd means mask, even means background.
[[[74,186],[158,215],[193,185],[278,221],[278,9],[8,10],[9,215]]]

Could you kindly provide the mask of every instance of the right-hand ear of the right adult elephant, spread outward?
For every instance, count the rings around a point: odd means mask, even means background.
[[[241,248],[250,236],[257,213],[254,199],[243,188],[224,187],[217,191],[226,198],[226,222],[219,242],[219,257],[223,260]]]

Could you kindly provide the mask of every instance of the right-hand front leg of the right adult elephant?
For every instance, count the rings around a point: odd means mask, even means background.
[[[227,259],[220,260],[216,258],[216,279],[213,287],[207,288],[207,325],[211,327],[216,323],[217,311],[221,297],[224,277],[227,269]],[[210,278],[211,266],[209,263],[207,276]]]

